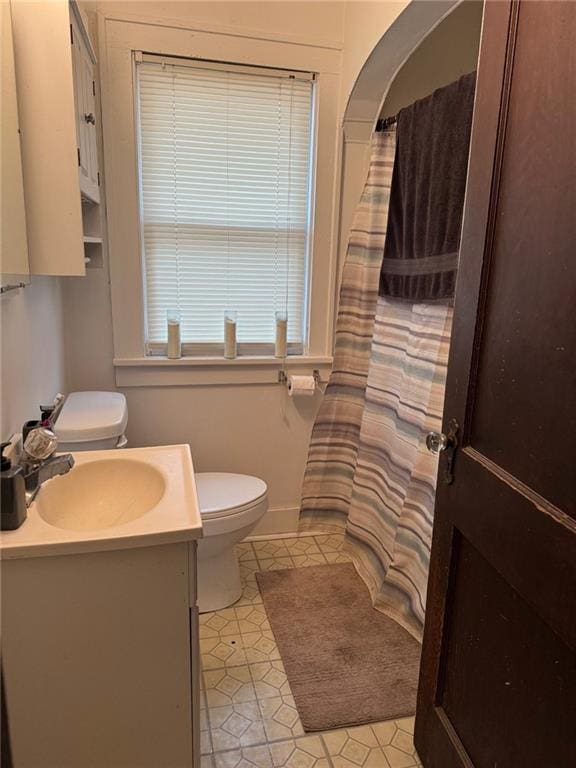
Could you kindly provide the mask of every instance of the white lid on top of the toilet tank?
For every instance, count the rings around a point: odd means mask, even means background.
[[[120,392],[71,392],[54,432],[61,443],[84,443],[120,437],[127,423],[126,398]]]

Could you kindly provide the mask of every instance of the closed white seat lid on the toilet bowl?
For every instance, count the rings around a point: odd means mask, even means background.
[[[202,517],[237,511],[252,506],[266,495],[264,480],[230,472],[197,472],[195,475],[198,504]]]

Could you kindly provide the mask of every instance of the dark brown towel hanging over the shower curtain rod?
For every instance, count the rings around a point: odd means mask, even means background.
[[[476,73],[398,115],[380,295],[454,296]]]

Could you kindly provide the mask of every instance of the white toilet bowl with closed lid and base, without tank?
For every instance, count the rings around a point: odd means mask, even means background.
[[[198,541],[198,607],[218,611],[242,594],[234,545],[250,534],[268,509],[263,480],[228,472],[196,475],[203,538]]]

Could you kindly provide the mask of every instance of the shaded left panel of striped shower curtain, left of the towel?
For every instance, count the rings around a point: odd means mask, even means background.
[[[340,287],[332,374],[314,429],[302,487],[301,530],[346,526],[386,237],[396,130],[374,133],[366,184],[356,208]]]

